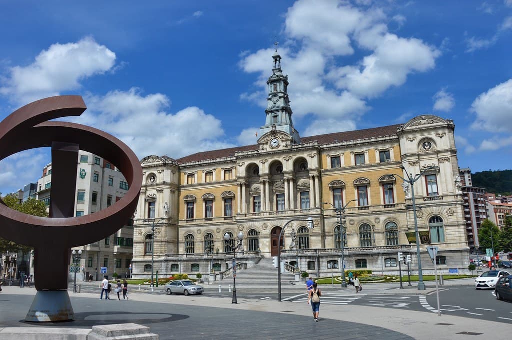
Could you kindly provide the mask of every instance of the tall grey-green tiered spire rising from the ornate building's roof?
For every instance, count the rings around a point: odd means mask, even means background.
[[[277,43],[275,44],[277,45]],[[276,133],[280,131],[291,137],[292,144],[300,144],[301,138],[293,127],[291,120],[292,110],[288,98],[288,76],[283,75],[281,56],[277,49],[275,49],[272,59],[274,62],[272,75],[267,80],[268,97],[265,125],[260,127],[260,136],[263,138],[268,132]]]

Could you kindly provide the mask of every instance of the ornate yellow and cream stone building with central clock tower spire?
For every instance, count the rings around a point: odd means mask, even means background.
[[[412,256],[414,273],[413,193],[423,272],[433,272],[429,242],[439,247],[441,271],[466,271],[453,121],[423,115],[404,124],[300,137],[281,56],[272,58],[256,145],[141,160],[133,277],[157,270],[160,277],[221,273],[231,267],[239,237],[236,261],[242,265],[281,248],[285,270],[331,276],[339,273],[343,240],[347,270],[396,274],[402,252]],[[408,174],[417,179],[414,188],[400,178]],[[345,209],[339,214],[334,207]]]

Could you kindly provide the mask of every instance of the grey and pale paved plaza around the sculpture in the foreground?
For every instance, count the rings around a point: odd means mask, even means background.
[[[471,284],[473,279],[445,281],[452,284]],[[96,285],[97,283],[91,283]],[[367,293],[418,294],[435,293],[432,282],[425,291],[416,284],[396,289],[396,284],[365,284]],[[406,283],[407,285],[407,283]],[[215,286],[215,285],[210,285]],[[48,327],[48,324],[28,324],[22,321],[35,289],[3,286],[0,293],[1,327]],[[237,287],[242,290],[244,287]],[[254,287],[252,287],[254,288]],[[300,286],[296,287],[300,290]],[[284,289],[296,289],[284,287]],[[440,286],[443,289],[443,286]],[[273,288],[269,288],[273,289]],[[323,288],[328,290],[329,287]],[[339,288],[338,288],[339,289]],[[352,292],[353,287],[346,288]],[[343,289],[344,290],[344,289]],[[100,301],[98,293],[70,292],[71,302],[82,321],[56,323],[52,327],[87,328],[96,324],[134,322],[149,326],[160,339],[296,339],[304,337],[342,339],[505,339],[510,324],[479,321],[460,316],[438,316],[431,311],[412,311],[359,305],[321,305],[320,322],[312,320],[307,304],[275,300],[230,299],[206,296],[166,296],[162,293],[143,293],[132,289],[129,301]],[[12,304],[16,305],[16,312]],[[10,309],[10,310],[7,310]],[[148,321],[144,314],[152,314]],[[165,315],[164,315],[165,314]],[[12,315],[12,316],[9,316]],[[163,316],[162,316],[163,315]],[[168,316],[171,315],[171,316]],[[159,320],[161,319],[161,320]],[[1,336],[0,336],[1,338]]]

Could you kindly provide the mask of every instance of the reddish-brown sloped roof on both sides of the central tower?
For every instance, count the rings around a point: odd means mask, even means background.
[[[374,127],[370,129],[362,129],[362,130],[354,130],[354,131],[344,131],[344,132],[334,132],[334,133],[326,133],[326,134],[317,134],[310,137],[301,137],[302,143],[308,143],[317,141],[318,144],[327,144],[327,143],[337,143],[337,142],[349,142],[355,140],[369,139],[369,138],[377,138],[384,137],[387,135],[396,134],[396,129],[401,124],[388,125],[388,126],[380,126]],[[238,151],[253,151],[257,150],[258,145],[245,145],[245,146],[237,146],[233,148],[220,149],[220,150],[210,150],[197,152],[185,157],[178,158],[176,161],[178,164],[184,164],[188,162],[198,162],[205,160],[215,160],[216,158],[227,158],[233,157],[235,152]]]

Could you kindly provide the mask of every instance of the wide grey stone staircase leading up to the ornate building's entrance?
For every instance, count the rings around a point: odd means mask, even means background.
[[[222,285],[233,283],[231,275],[224,276],[224,279],[218,281]],[[281,273],[281,285],[291,286],[293,284],[300,285],[301,282],[295,282],[295,274],[288,272]],[[278,268],[272,265],[272,258],[262,258],[257,265],[243,270],[237,270],[237,286],[277,286],[278,285]]]

